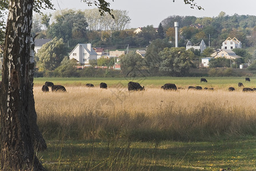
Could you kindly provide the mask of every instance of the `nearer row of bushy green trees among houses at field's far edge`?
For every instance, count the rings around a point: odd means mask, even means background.
[[[45,73],[53,71],[55,71],[54,75],[51,76],[61,76],[61,72],[65,68],[69,70],[65,75],[70,73],[70,76],[78,76],[74,75],[71,70],[75,72],[76,66],[79,64],[73,60],[69,60],[65,49],[63,39],[58,39],[57,37],[43,45],[35,55],[38,73],[41,73],[38,76],[49,76],[49,74]],[[145,58],[142,58],[141,55],[136,54],[134,51],[121,56],[121,70],[123,76],[138,75],[138,71],[147,71],[149,75],[159,75],[161,72],[170,76],[185,76],[190,67],[200,66],[201,58],[210,56],[213,51],[213,48],[210,47],[207,47],[202,53],[193,48],[190,50],[186,50],[185,47],[174,48],[173,44],[169,43],[166,39],[155,39],[147,47]],[[210,67],[239,68],[240,64],[252,64],[256,59],[256,54],[251,55],[242,48],[235,48],[234,52],[242,58],[232,61],[225,58],[212,59],[210,60]],[[102,56],[97,61],[91,60],[90,64],[91,66],[113,67],[114,58]]]

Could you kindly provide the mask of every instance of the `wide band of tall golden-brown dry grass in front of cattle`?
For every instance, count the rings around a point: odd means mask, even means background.
[[[256,135],[256,93],[148,88],[34,88],[46,139],[203,140]]]

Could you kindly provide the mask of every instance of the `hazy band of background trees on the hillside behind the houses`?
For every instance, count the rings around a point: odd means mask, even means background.
[[[179,47],[185,47],[188,40],[199,43],[205,40],[207,46],[220,48],[228,37],[236,37],[243,47],[256,45],[256,16],[226,15],[221,12],[218,17],[170,16],[159,24],[142,27],[138,34],[135,28],[125,29],[131,19],[127,11],[114,10],[115,19],[110,15],[97,15],[97,9],[63,10],[53,15],[43,14],[33,18],[34,34],[38,38],[62,38],[70,47],[77,43],[91,42],[94,47],[109,47],[129,44],[130,47],[146,47],[155,39],[175,41],[174,22],[179,22]],[[50,24],[50,19],[53,23]],[[45,30],[42,30],[45,28]],[[209,44],[210,43],[210,44]]]

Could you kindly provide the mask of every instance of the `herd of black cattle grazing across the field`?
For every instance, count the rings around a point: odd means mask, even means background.
[[[250,82],[250,78],[245,78],[245,82]],[[205,78],[201,78],[200,83],[208,83],[207,80]],[[91,83],[87,83],[85,85],[86,87],[94,87],[93,84]],[[66,92],[66,88],[64,86],[61,85],[54,85],[52,82],[45,82],[45,85],[43,85],[42,87],[42,91],[43,92],[49,92],[49,87],[51,87],[51,91],[52,92]],[[107,89],[107,84],[106,83],[101,83],[99,84],[100,88],[105,88]],[[238,83],[238,87],[244,87],[243,83]],[[173,83],[166,83],[164,84],[162,87],[162,89],[169,89],[169,90],[174,90],[176,91],[177,89],[185,89],[185,88],[181,88],[178,87],[173,84]],[[196,90],[201,90],[201,89],[205,89],[205,90],[214,90],[214,88],[202,88],[201,86],[189,86],[188,89],[196,89]],[[145,90],[144,86],[142,87],[139,83],[135,83],[135,82],[129,82],[128,83],[128,91],[142,91]],[[229,87],[227,89],[228,91],[235,91],[234,87]],[[247,92],[247,91],[256,91],[256,88],[243,88],[243,92]]]

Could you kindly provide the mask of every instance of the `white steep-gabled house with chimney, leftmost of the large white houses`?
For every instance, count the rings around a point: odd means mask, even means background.
[[[91,47],[91,43],[78,43],[69,54],[69,59],[73,58],[81,64],[89,64],[90,60],[97,60],[97,52]]]

